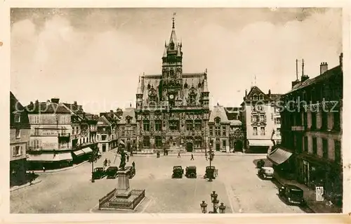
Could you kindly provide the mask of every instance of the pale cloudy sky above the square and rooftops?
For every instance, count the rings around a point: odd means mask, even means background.
[[[16,8],[11,91],[23,105],[58,97],[98,113],[135,105],[138,77],[161,74],[164,42],[183,44],[183,72],[208,71],[211,105],[239,106],[256,85],[286,93],[321,62],[339,64],[338,8]],[[256,79],[255,79],[256,77]]]

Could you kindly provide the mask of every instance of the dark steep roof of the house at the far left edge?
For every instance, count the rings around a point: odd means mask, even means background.
[[[20,122],[15,122],[15,114],[20,114]],[[27,111],[10,91],[10,129],[30,129]]]

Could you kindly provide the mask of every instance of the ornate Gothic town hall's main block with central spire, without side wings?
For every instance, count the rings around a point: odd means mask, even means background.
[[[161,74],[140,77],[136,93],[138,150],[204,151],[208,147],[207,71],[183,73],[182,43],[173,27]]]

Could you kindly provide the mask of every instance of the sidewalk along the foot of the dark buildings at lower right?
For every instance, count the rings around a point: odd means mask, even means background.
[[[303,190],[303,197],[306,201],[307,206],[314,211],[314,213],[342,213],[343,209],[329,204],[329,201],[324,200],[323,202],[316,201],[316,195],[314,190],[310,189],[306,185],[298,183],[296,180],[286,180],[280,177],[277,173],[274,173],[274,178],[281,184],[291,184],[300,187]]]

